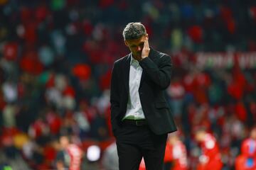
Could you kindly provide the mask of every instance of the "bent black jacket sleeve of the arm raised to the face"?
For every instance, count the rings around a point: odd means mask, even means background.
[[[159,59],[159,65],[156,65],[149,57],[139,62],[142,69],[160,89],[166,89],[171,82],[171,57],[162,55]]]

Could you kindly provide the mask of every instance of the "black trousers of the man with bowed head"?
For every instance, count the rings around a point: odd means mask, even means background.
[[[144,157],[146,170],[162,170],[167,134],[155,135],[148,125],[123,124],[117,135],[119,170],[138,170]]]

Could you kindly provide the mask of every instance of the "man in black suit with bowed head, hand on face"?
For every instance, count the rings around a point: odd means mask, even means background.
[[[131,53],[114,62],[111,122],[120,170],[163,169],[166,137],[176,131],[164,91],[171,81],[171,57],[149,47],[142,23],[128,23],[124,44]]]

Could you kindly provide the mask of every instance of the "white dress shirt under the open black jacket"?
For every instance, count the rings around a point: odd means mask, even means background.
[[[145,115],[142,111],[142,103],[139,98],[139,84],[141,79],[142,67],[137,60],[131,57],[129,70],[129,98],[124,119],[145,119]]]

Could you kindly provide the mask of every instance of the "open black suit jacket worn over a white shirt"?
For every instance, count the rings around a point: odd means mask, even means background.
[[[131,55],[114,62],[112,69],[110,103],[114,136],[118,135],[122,118],[127,111]],[[171,81],[171,57],[151,48],[149,57],[144,58],[139,64],[143,69],[139,98],[149,128],[156,135],[176,131],[174,119],[164,97],[164,91]]]

